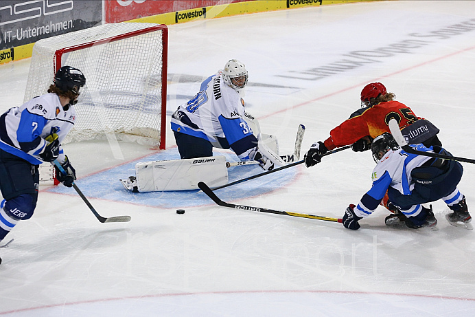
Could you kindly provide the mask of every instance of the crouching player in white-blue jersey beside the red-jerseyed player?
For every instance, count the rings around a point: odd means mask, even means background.
[[[417,151],[450,155],[440,146],[410,146]],[[459,162],[406,153],[397,146],[389,133],[375,138],[371,151],[375,160],[379,161],[371,176],[373,187],[364,194],[358,206],[349,205],[343,216],[345,228],[360,228],[358,221],[371,215],[387,190],[389,201],[407,217],[405,223],[409,228],[435,228],[437,219],[432,208],[425,208],[421,204],[442,199],[453,210],[447,217],[449,223],[453,226],[461,223],[461,226],[470,229],[472,217],[465,197],[457,189],[463,174]]]

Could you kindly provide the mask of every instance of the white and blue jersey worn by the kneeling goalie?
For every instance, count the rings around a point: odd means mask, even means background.
[[[192,100],[173,113],[172,130],[208,140],[215,147],[231,147],[241,160],[257,145],[244,120],[244,100],[224,83],[222,71],[202,82]]]

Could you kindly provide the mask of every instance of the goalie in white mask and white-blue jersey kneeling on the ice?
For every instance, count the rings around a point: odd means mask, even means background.
[[[257,140],[244,120],[246,67],[231,60],[201,83],[192,100],[172,115],[172,130],[182,159],[209,157],[213,147],[232,149],[242,161],[257,160],[265,170],[283,166],[281,158]]]

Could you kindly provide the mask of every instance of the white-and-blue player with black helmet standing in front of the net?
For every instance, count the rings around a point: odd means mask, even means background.
[[[79,69],[58,69],[48,94],[14,107],[0,116],[0,242],[20,220],[30,219],[38,199],[38,165],[58,160],[72,186],[76,171],[61,148],[76,120],[76,104],[86,83]],[[58,171],[57,171],[58,172]]]

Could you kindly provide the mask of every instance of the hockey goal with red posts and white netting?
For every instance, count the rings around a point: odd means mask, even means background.
[[[46,94],[64,65],[80,69],[86,86],[76,124],[63,144],[111,138],[165,149],[166,25],[113,23],[38,41],[25,102]]]

